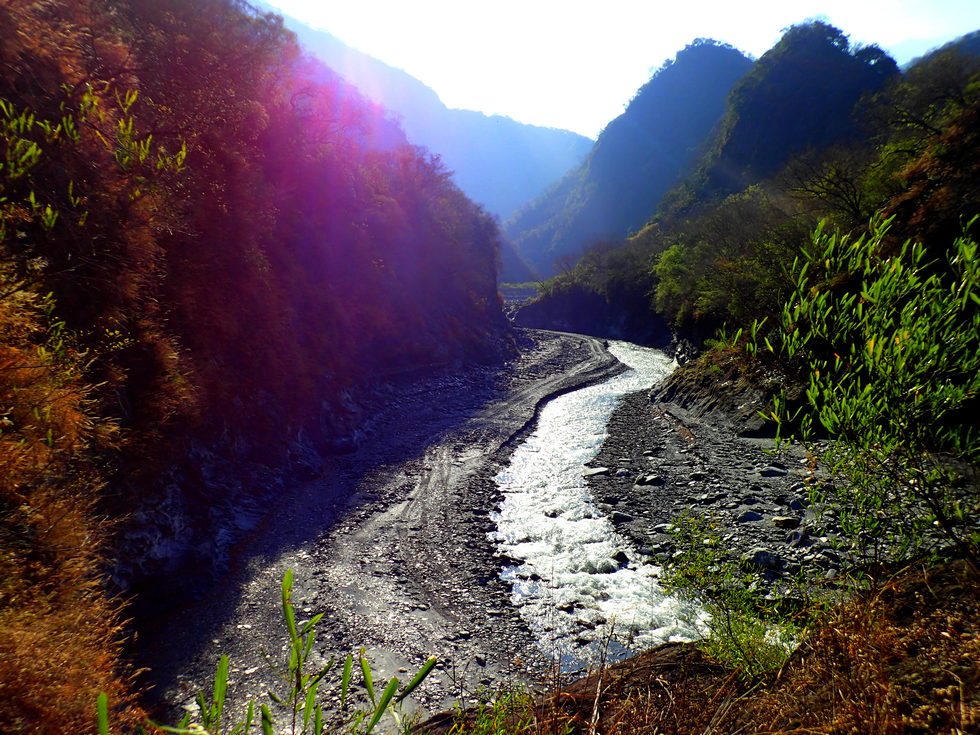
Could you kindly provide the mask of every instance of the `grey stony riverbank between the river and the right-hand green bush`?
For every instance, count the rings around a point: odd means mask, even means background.
[[[799,447],[775,452],[756,414],[760,395],[684,381],[672,376],[619,405],[588,477],[596,503],[652,562],[675,552],[678,518],[710,517],[725,553],[774,586],[801,569],[832,583],[839,557],[818,530],[827,519],[810,507],[812,459]]]

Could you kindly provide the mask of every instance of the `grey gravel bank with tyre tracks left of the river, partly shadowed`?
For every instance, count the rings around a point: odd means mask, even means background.
[[[420,383],[392,398],[356,451],[283,492],[200,599],[140,623],[138,663],[171,720],[213,676],[222,653],[231,699],[277,683],[278,587],[293,569],[304,615],[324,613],[316,657],[368,649],[375,675],[404,677],[435,655],[419,691],[427,708],[545,665],[498,578],[488,539],[493,477],[550,396],[616,374],[599,340],[522,333],[518,358]]]

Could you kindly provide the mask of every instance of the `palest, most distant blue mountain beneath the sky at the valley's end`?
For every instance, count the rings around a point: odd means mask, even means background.
[[[438,154],[463,192],[498,217],[537,196],[592,147],[591,140],[568,130],[449,109],[407,72],[295,18],[284,21],[311,54],[395,113],[409,140]]]

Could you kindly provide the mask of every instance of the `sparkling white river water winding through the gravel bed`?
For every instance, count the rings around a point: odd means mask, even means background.
[[[492,534],[514,560],[503,577],[549,654],[574,670],[699,635],[703,613],[666,594],[659,568],[595,506],[585,483],[619,399],[666,378],[662,351],[612,342],[630,369],[550,401],[537,428],[496,477],[504,494]]]

